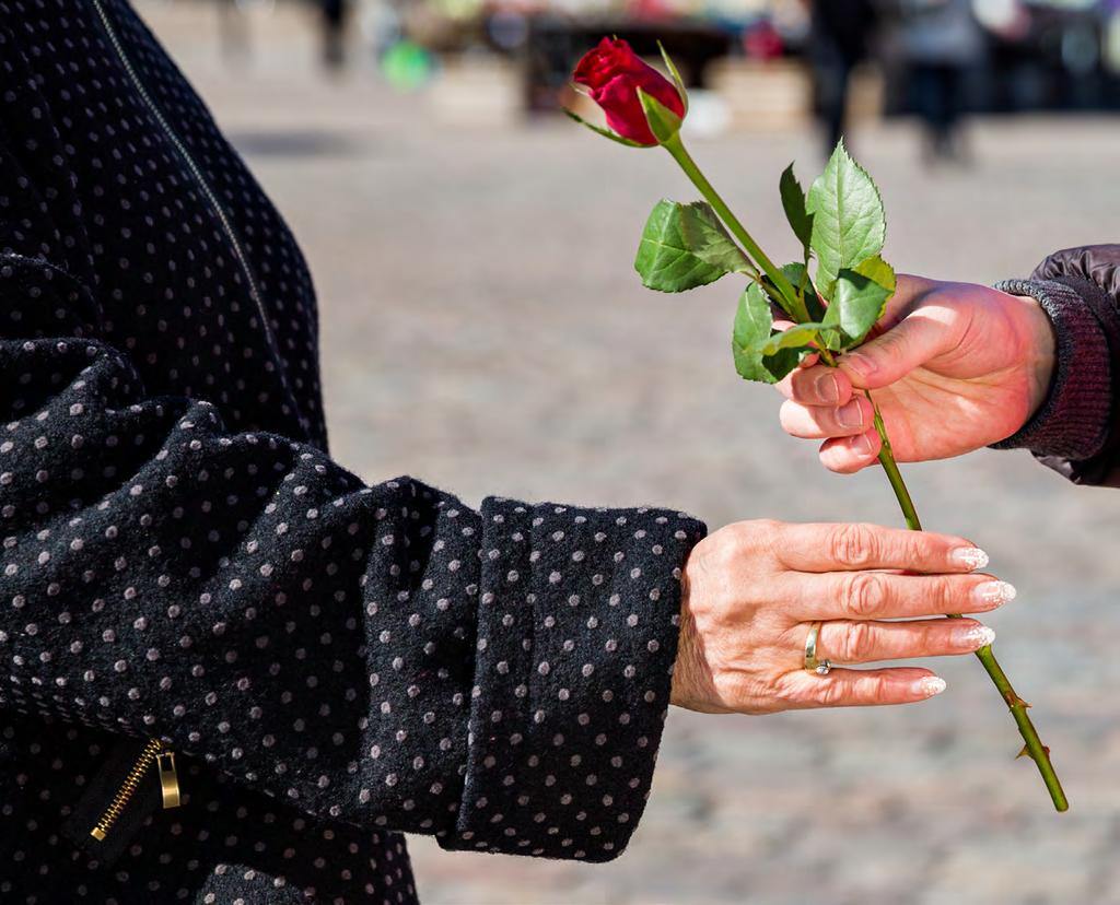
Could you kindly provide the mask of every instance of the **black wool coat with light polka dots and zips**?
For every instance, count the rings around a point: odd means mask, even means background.
[[[124,0],[0,0],[0,901],[408,903],[402,832],[634,831],[702,526],[367,484],[317,338]]]

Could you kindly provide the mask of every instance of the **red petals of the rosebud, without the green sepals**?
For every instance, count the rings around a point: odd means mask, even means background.
[[[615,132],[638,144],[660,144],[650,130],[638,88],[684,119],[684,101],[673,83],[643,63],[624,40],[599,41],[579,62],[572,79],[590,89],[591,100],[603,107]]]

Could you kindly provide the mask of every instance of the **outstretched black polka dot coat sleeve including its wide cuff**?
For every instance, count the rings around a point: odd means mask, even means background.
[[[479,512],[148,395],[0,162],[0,706],[452,848],[619,852],[702,526]]]

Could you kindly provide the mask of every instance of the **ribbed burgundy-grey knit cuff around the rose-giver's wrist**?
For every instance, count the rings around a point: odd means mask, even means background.
[[[1038,456],[1074,461],[1101,451],[1112,404],[1109,347],[1085,300],[1053,280],[1008,280],[996,286],[1038,301],[1054,327],[1056,361],[1046,400],[997,450],[1028,449]]]

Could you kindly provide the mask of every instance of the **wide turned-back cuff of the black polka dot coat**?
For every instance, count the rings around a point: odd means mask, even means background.
[[[488,499],[483,531],[467,775],[440,843],[610,860],[650,793],[681,568],[704,526]]]

